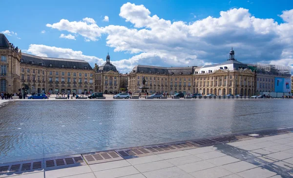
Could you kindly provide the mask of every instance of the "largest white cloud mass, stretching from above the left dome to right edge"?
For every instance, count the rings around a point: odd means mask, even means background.
[[[96,41],[102,34],[115,52],[134,54],[130,59],[113,61],[125,70],[134,65],[186,66],[223,62],[233,46],[242,62],[293,59],[293,10],[283,11],[285,23],[252,16],[248,9],[221,11],[218,18],[196,21],[173,21],[151,15],[144,5],[123,4],[119,16],[129,26],[60,20],[47,27],[81,35]],[[121,69],[120,69],[121,70]]]

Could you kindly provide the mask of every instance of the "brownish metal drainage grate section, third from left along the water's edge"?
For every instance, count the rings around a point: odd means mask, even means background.
[[[82,154],[87,164],[96,164],[108,161],[121,160],[121,158],[115,151],[104,151],[95,153]]]

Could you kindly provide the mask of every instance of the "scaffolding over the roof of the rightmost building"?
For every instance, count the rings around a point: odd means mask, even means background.
[[[291,67],[284,65],[273,65],[265,63],[249,64],[249,67],[257,74],[265,74],[272,76],[282,76],[291,78]]]

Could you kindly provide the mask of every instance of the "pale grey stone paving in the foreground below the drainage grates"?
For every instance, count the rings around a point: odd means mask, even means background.
[[[293,133],[10,176],[13,178],[293,178],[291,143],[293,143]],[[1,175],[1,178],[10,176]]]

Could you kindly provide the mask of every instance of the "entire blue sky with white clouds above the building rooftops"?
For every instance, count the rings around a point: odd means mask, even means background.
[[[93,66],[109,51],[117,68],[129,72],[137,64],[217,63],[233,46],[243,62],[293,64],[292,0],[17,0],[1,6],[0,32],[22,52],[40,56]]]

